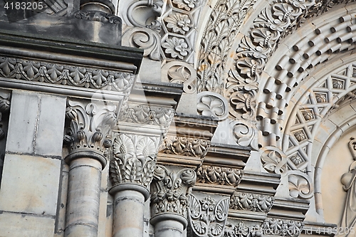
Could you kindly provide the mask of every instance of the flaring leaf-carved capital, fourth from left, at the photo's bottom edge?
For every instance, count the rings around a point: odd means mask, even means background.
[[[229,197],[216,201],[211,196],[200,200],[189,196],[189,221],[195,236],[224,236],[228,211]]]

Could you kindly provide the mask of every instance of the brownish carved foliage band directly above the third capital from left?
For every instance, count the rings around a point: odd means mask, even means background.
[[[210,147],[208,139],[168,136],[162,144],[162,152],[188,157],[205,157]]]

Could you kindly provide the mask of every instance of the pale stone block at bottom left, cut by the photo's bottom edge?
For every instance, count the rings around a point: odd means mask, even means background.
[[[0,212],[0,237],[53,236],[54,217]]]

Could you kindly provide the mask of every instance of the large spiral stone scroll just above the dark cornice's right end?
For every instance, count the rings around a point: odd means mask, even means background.
[[[129,46],[142,48],[143,56],[148,56],[152,60],[160,60],[160,36],[150,28],[128,28],[122,33],[122,41],[127,42]]]

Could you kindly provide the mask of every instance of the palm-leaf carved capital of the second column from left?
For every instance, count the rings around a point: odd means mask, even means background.
[[[123,183],[149,188],[157,159],[159,137],[117,135],[110,161],[112,186]]]

